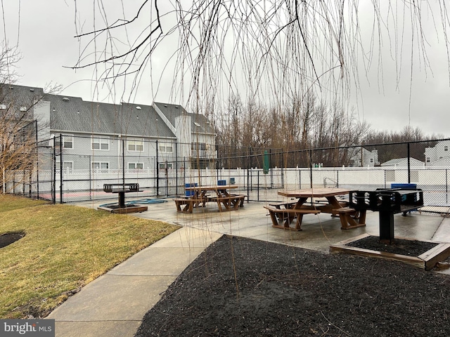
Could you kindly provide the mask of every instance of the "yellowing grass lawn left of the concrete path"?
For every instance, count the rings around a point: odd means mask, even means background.
[[[0,318],[45,317],[112,267],[179,227],[161,221],[0,195]]]

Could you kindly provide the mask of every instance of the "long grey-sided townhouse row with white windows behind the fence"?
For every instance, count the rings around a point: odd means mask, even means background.
[[[0,108],[14,104],[37,120],[39,140],[58,146],[51,139],[62,136],[65,170],[174,169],[175,162],[189,169],[198,162],[211,167],[217,158],[210,121],[181,105],[96,103],[29,86],[0,92]]]

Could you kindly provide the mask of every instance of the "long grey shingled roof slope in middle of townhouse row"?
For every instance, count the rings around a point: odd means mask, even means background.
[[[52,131],[174,138],[150,105],[86,102],[82,98],[46,95]]]

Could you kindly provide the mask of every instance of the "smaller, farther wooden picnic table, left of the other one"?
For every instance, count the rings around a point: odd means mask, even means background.
[[[243,206],[245,195],[231,194],[228,190],[238,188],[238,185],[207,185],[186,187],[186,191],[192,191],[191,197],[175,199],[177,211],[192,213],[195,207],[205,206],[208,201],[217,202],[219,211],[233,211]],[[214,196],[208,195],[214,192]],[[222,207],[223,206],[223,207]]]

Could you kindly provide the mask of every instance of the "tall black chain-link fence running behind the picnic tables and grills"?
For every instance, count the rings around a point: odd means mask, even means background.
[[[110,183],[138,183],[141,192],[127,197],[141,199],[226,180],[249,201],[273,201],[281,189],[374,190],[407,183],[424,191],[426,205],[449,206],[449,147],[450,140],[432,140],[287,151],[58,135],[37,143],[34,168],[4,173],[3,187],[64,203],[117,199],[103,191]],[[189,156],[181,157],[186,149]]]

